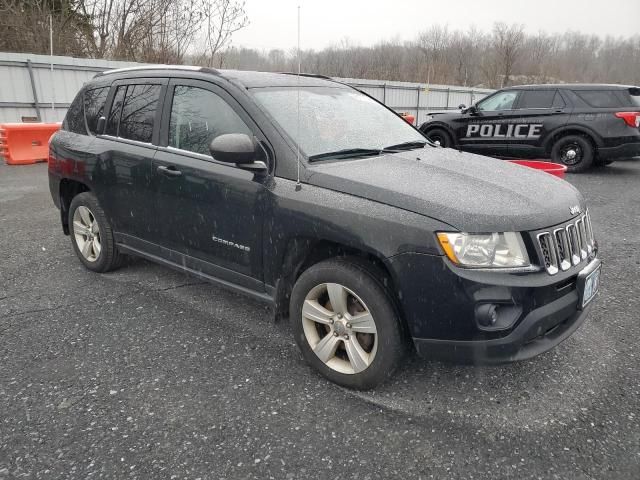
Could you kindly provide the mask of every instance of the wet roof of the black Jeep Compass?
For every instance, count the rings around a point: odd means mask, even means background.
[[[207,67],[192,67],[186,65],[148,65],[139,67],[118,68],[115,70],[107,70],[99,73],[96,77],[104,77],[107,75],[118,75],[125,77],[143,77],[149,74],[157,75],[167,71],[180,74],[194,72],[199,74],[210,74],[229,80],[244,88],[261,88],[261,87],[335,87],[349,88],[348,86],[336,82],[329,77],[313,74],[293,73],[273,73],[273,72],[253,72],[248,70],[216,70]],[[95,77],[94,77],[95,78]]]

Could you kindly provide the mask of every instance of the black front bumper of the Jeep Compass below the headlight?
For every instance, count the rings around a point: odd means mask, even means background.
[[[396,266],[404,268],[404,274],[407,269],[424,270],[420,283],[398,279],[415,348],[427,358],[478,364],[525,360],[571,336],[584,322],[592,303],[579,307],[579,276],[600,266],[599,259],[591,258],[577,271],[562,276],[472,272],[464,278],[442,257],[426,257],[396,258]],[[438,269],[438,263],[443,267]],[[477,307],[483,303],[508,306],[516,312],[515,320],[502,329],[481,327]]]

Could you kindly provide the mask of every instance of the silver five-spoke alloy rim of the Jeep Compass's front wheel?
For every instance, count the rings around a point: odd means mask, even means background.
[[[302,305],[302,326],[311,350],[337,372],[360,373],[376,356],[378,332],[371,312],[339,283],[311,289]]]

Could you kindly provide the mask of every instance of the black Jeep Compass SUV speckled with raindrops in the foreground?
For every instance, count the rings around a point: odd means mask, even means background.
[[[328,79],[106,72],[54,136],[49,179],[87,268],[139,255],[263,300],[350,387],[383,380],[407,345],[532,357],[580,326],[598,289],[570,184],[429,144]]]

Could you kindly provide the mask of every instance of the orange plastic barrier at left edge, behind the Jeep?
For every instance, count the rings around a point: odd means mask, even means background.
[[[59,123],[3,123],[0,125],[0,155],[9,165],[46,162],[49,139]]]

